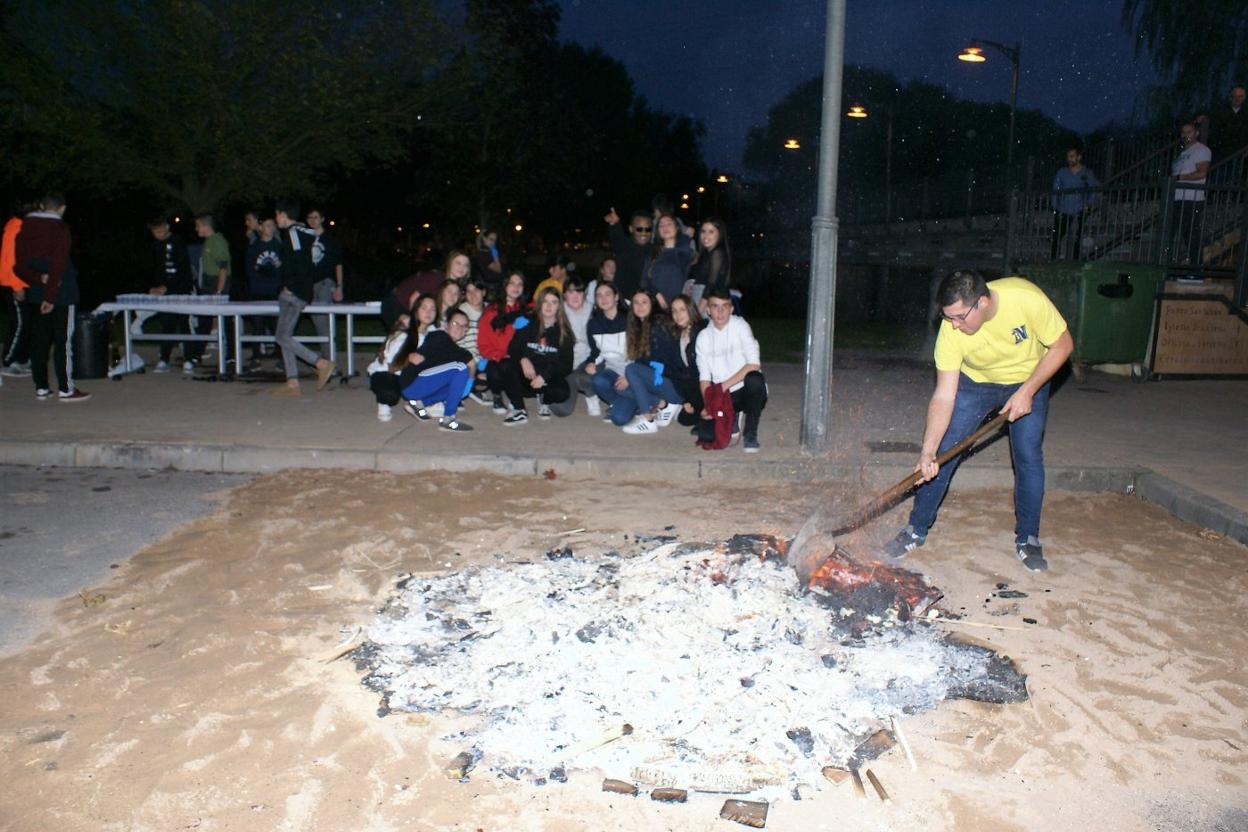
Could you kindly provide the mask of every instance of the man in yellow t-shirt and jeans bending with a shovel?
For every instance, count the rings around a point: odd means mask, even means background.
[[[1040,544],[1040,510],[1048,379],[1071,357],[1075,342],[1053,302],[1021,277],[985,283],[978,272],[953,272],[941,282],[936,301],[943,321],[936,336],[936,390],[915,467],[922,485],[910,524],[884,550],[904,558],[924,545],[958,463],[938,467],[936,457],[1000,412],[1010,420],[1015,467],[1015,554],[1030,571],[1043,571],[1048,563]]]

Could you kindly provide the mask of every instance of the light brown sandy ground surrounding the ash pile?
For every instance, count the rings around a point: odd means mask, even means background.
[[[379,718],[352,664],[326,661],[401,573],[666,525],[791,533],[819,498],[700,489],[347,472],[236,489],[0,661],[0,830],[745,828],[718,818],[723,797],[610,796],[594,772],[449,781],[441,718]],[[911,565],[948,609],[1010,627],[958,630],[1016,657],[1032,701],[916,716],[917,771],[899,748],[872,765],[890,802],[821,783],[768,828],[1248,830],[1248,551],[1129,496],[1053,494],[1052,569],[1030,575],[1011,513],[1007,494],[955,493]],[[998,581],[1028,597],[993,597]]]

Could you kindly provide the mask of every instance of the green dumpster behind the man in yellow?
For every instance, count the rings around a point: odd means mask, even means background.
[[[1161,266],[1042,263],[1022,274],[1053,301],[1075,338],[1076,364],[1142,364],[1148,356]]]

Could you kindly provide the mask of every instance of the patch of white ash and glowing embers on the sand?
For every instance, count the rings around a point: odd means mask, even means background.
[[[470,717],[444,738],[500,775],[768,800],[879,753],[891,717],[1026,697],[1007,657],[932,626],[920,576],[831,561],[804,591],[782,550],[746,535],[413,576],[357,665],[382,715]]]

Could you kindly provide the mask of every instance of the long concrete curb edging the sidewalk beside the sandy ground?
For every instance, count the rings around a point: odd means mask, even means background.
[[[489,472],[512,476],[557,476],[655,480],[780,480],[792,483],[850,481],[865,489],[901,480],[912,470],[904,463],[846,465],[817,459],[766,459],[725,455],[690,459],[628,457],[559,457],[509,454],[439,454],[341,448],[261,448],[140,442],[0,440],[0,464],[60,468],[171,468],[220,474],[271,474],[290,468],[339,470]],[[1134,493],[1176,518],[1248,544],[1248,514],[1174,480],[1142,468],[1050,465],[1048,488],[1067,491]],[[1001,464],[968,460],[958,484],[970,488],[1013,488],[1013,472]]]

